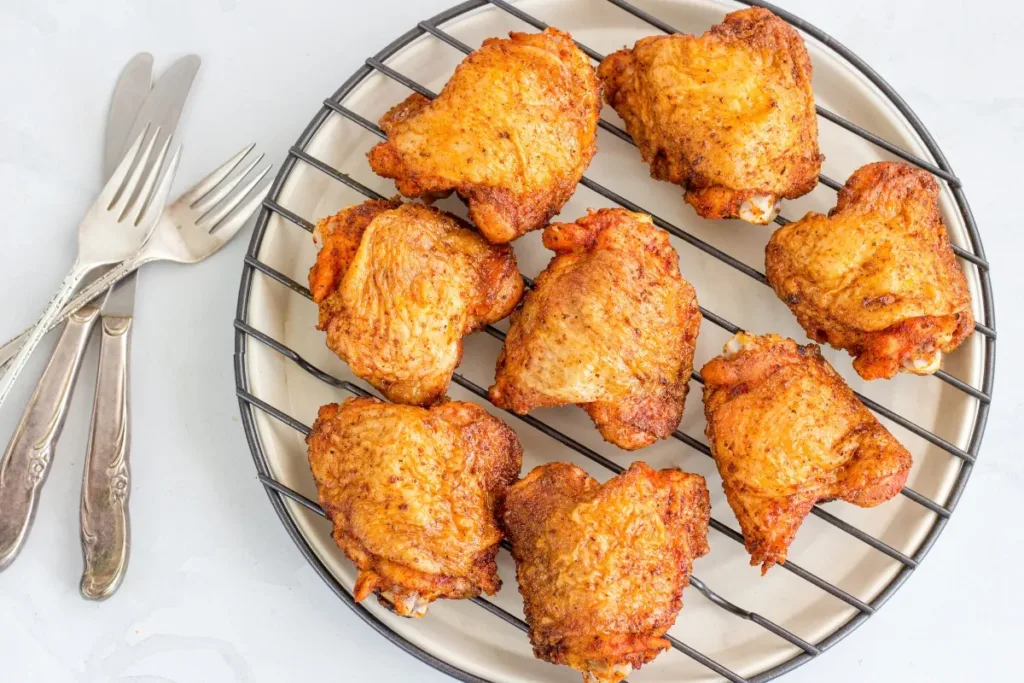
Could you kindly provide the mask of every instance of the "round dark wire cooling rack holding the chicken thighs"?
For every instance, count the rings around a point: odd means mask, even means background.
[[[614,6],[618,10],[625,12],[626,15],[644,23],[644,25],[649,27],[652,31],[665,33],[677,32],[673,26],[670,26],[649,11],[641,9],[627,0],[603,1],[608,5]],[[976,381],[974,383],[968,382],[944,371],[940,371],[940,373],[938,373],[939,381],[945,383],[949,387],[952,387],[958,392],[963,392],[965,397],[969,397],[972,401],[974,418],[970,428],[970,434],[966,437],[966,439],[964,439],[964,442],[966,443],[965,446],[962,447],[956,445],[952,442],[952,440],[944,438],[943,436],[922,427],[891,408],[887,408],[878,400],[872,400],[867,396],[858,394],[864,403],[877,415],[896,425],[899,425],[910,434],[921,438],[924,442],[931,444],[931,446],[935,446],[938,450],[945,452],[949,457],[954,459],[954,461],[959,463],[958,471],[955,473],[954,480],[948,487],[948,493],[946,493],[942,502],[926,497],[911,488],[904,488],[901,492],[906,499],[913,502],[915,505],[921,506],[922,510],[927,511],[927,513],[931,515],[931,523],[927,529],[927,533],[924,535],[923,541],[916,546],[914,552],[912,554],[904,553],[821,507],[815,507],[812,511],[812,515],[822,520],[822,522],[837,527],[845,535],[848,535],[852,539],[869,546],[874,551],[898,564],[898,571],[895,572],[892,579],[888,581],[880,592],[874,594],[872,599],[861,599],[854,595],[852,591],[845,590],[844,588],[836,585],[836,583],[822,579],[818,575],[818,573],[804,568],[793,561],[787,561],[784,565],[781,565],[779,568],[782,570],[788,571],[815,589],[830,595],[833,598],[845,603],[845,605],[851,607],[853,610],[853,615],[838,629],[831,631],[824,637],[815,639],[811,642],[810,640],[806,640],[797,635],[791,629],[786,629],[756,611],[745,609],[739,604],[722,597],[713,591],[701,580],[695,577],[691,579],[691,585],[694,586],[697,591],[703,594],[705,597],[707,597],[717,607],[725,610],[735,617],[757,625],[757,627],[773,634],[781,641],[784,641],[785,643],[788,643],[788,645],[793,646],[796,653],[779,664],[775,664],[774,666],[768,667],[759,673],[744,677],[730,670],[728,667],[715,658],[701,653],[690,645],[687,645],[685,642],[669,636],[672,647],[681,652],[683,655],[688,656],[692,660],[705,667],[710,673],[713,673],[721,678],[734,682],[760,682],[776,678],[781,674],[784,674],[804,664],[805,661],[820,655],[822,652],[849,635],[854,629],[863,624],[868,616],[874,613],[893,595],[893,593],[895,593],[895,591],[902,586],[903,582],[906,581],[910,573],[913,572],[914,568],[916,568],[924,557],[928,554],[932,545],[935,543],[939,533],[945,526],[949,516],[956,507],[957,501],[959,500],[968,478],[971,475],[973,465],[978,457],[979,449],[981,446],[982,436],[984,434],[985,423],[991,401],[994,376],[995,322],[991,283],[988,272],[989,266],[985,259],[984,250],[981,244],[981,237],[971,214],[970,207],[968,206],[962,183],[952,172],[952,169],[950,168],[938,144],[928,133],[924,125],[906,104],[906,102],[859,57],[840,43],[836,42],[831,37],[822,31],[807,24],[790,12],[768,3],[758,0],[738,0],[738,2],[743,5],[767,7],[778,16],[799,29],[805,36],[809,36],[817,40],[826,49],[830,50],[831,53],[845,60],[847,65],[852,67],[864,79],[872,84],[872,86],[888,99],[889,103],[895,108],[895,111],[899,113],[903,121],[912,128],[921,143],[928,151],[931,161],[923,159],[919,155],[911,154],[903,147],[883,139],[879,135],[865,130],[859,125],[826,109],[823,109],[822,106],[817,108],[818,116],[821,119],[831,122],[850,134],[858,136],[862,140],[866,140],[888,155],[900,158],[931,172],[936,177],[944,181],[944,184],[952,195],[956,211],[963,220],[963,225],[966,228],[967,239],[969,242],[968,246],[954,247],[954,251],[961,258],[962,263],[965,265],[965,269],[974,269],[976,279],[973,280],[973,282],[976,284],[977,289],[975,298],[976,300],[980,300],[981,308],[981,314],[979,315],[979,323],[975,333],[980,339],[979,343],[981,348],[980,371],[976,374]],[[246,437],[253,455],[253,460],[255,462],[260,481],[265,486],[270,503],[281,518],[282,523],[285,525],[285,528],[288,530],[299,550],[313,566],[313,568],[319,573],[327,585],[366,623],[388,638],[388,640],[412,653],[422,661],[432,666],[438,671],[444,672],[452,677],[463,681],[486,681],[488,679],[480,678],[475,674],[465,671],[464,668],[460,668],[437,654],[427,651],[424,647],[412,642],[409,638],[398,633],[372,609],[364,606],[362,604],[355,603],[352,599],[350,590],[335,577],[331,568],[322,560],[321,556],[310,545],[309,539],[300,528],[300,524],[297,523],[293,511],[286,505],[286,501],[292,501],[293,503],[298,504],[299,506],[302,506],[318,515],[324,514],[323,510],[315,502],[309,500],[294,488],[274,478],[267,454],[267,444],[265,443],[257,425],[257,412],[275,419],[283,425],[296,430],[302,435],[309,432],[309,427],[289,415],[288,412],[283,410],[281,407],[271,404],[271,402],[266,399],[266,396],[261,397],[260,395],[257,395],[258,392],[253,389],[253,376],[247,350],[249,349],[249,345],[255,342],[263,347],[271,349],[276,354],[280,354],[283,361],[287,360],[290,364],[294,364],[299,369],[305,371],[310,376],[326,383],[330,387],[340,389],[354,395],[371,395],[367,389],[360,387],[359,385],[335,377],[317,368],[303,355],[300,355],[300,353],[294,350],[294,348],[287,345],[283,339],[279,339],[274,335],[261,331],[256,325],[253,324],[254,321],[252,319],[250,304],[253,301],[254,279],[258,274],[274,282],[278,286],[287,288],[287,290],[290,290],[294,294],[305,297],[306,299],[310,298],[308,289],[296,282],[294,278],[286,274],[282,271],[282,269],[276,268],[268,264],[265,260],[261,260],[259,258],[261,247],[264,245],[268,223],[274,216],[279,216],[288,223],[291,223],[295,227],[301,228],[307,232],[312,231],[313,224],[309,220],[297,215],[297,213],[279,203],[282,190],[285,188],[289,179],[293,177],[299,164],[304,164],[315,169],[316,171],[325,174],[327,177],[342,183],[346,187],[351,190],[355,190],[355,193],[358,193],[366,198],[381,198],[379,193],[354,179],[351,174],[334,168],[329,163],[311,154],[309,150],[310,142],[332,117],[341,117],[346,122],[354,124],[364,131],[369,131],[370,133],[383,138],[384,134],[377,125],[346,105],[346,98],[367,79],[377,76],[389,79],[394,83],[400,84],[401,86],[404,86],[412,91],[419,92],[427,97],[433,97],[435,94],[434,92],[422,85],[420,82],[417,82],[415,79],[402,74],[392,66],[389,66],[388,61],[395,57],[395,55],[399,54],[403,48],[407,48],[415,41],[425,38],[436,39],[455,50],[462,53],[469,53],[473,48],[452,35],[452,33],[446,30],[446,26],[451,25],[459,17],[463,17],[472,11],[481,10],[483,8],[486,8],[488,11],[505,12],[508,15],[515,17],[516,19],[538,30],[543,30],[547,26],[540,18],[523,11],[521,4],[513,5],[504,0],[468,0],[437,14],[430,19],[421,22],[416,28],[397,38],[394,42],[373,57],[368,58],[366,63],[360,67],[347,81],[345,81],[337,92],[324,101],[321,110],[302,132],[295,145],[289,151],[288,159],[282,165],[281,171],[270,188],[268,198],[264,202],[263,209],[259,215],[259,219],[253,233],[249,251],[245,257],[239,292],[238,311],[234,321],[236,385]],[[722,13],[724,14],[733,8],[734,7],[722,5]],[[571,27],[561,28],[565,28],[571,32]],[[580,47],[588,54],[588,56],[595,60],[600,60],[603,56],[587,45],[580,44]],[[600,128],[605,133],[632,144],[630,136],[617,125],[609,123],[606,120],[602,120],[600,122]],[[825,150],[825,152],[827,154],[828,151]],[[823,175],[820,177],[820,182],[822,185],[830,187],[831,189],[838,190],[841,187],[841,183]],[[649,211],[646,211],[644,207],[638,206],[630,199],[616,194],[612,189],[596,182],[590,177],[583,178],[581,185],[596,193],[604,200],[607,200],[612,204],[620,205],[631,211],[650,213]],[[761,284],[766,284],[764,274],[744,263],[743,260],[726,253],[722,249],[711,244],[709,241],[701,239],[692,231],[687,231],[679,227],[669,220],[666,220],[657,215],[652,215],[652,217],[655,224],[668,230],[683,243],[699,250],[705,255],[717,259],[742,275]],[[787,221],[780,216],[776,219],[776,222],[784,224]],[[312,304],[309,305],[312,306]],[[717,328],[720,328],[729,334],[739,331],[739,328],[736,325],[732,324],[722,315],[716,314],[715,312],[703,307],[701,307],[701,313],[708,323],[713,324]],[[765,332],[768,331],[770,330],[765,330]],[[504,340],[504,334],[497,328],[492,327],[487,329],[486,332],[498,340]],[[470,379],[467,379],[462,374],[456,374],[453,380],[457,386],[467,390],[470,394],[475,395],[475,397],[481,400],[486,400],[486,390],[482,386],[476,384]],[[694,373],[693,380],[697,383],[701,381],[697,373]],[[980,382],[977,380],[980,380]],[[980,386],[975,386],[975,384],[980,384]],[[625,469],[622,465],[601,455],[596,450],[585,445],[580,440],[545,422],[542,422],[536,417],[529,415],[512,417],[555,439],[563,446],[566,446],[575,454],[592,461],[598,466],[604,467],[614,473],[621,472]],[[686,446],[710,457],[711,454],[707,444],[697,438],[690,436],[682,430],[677,430],[674,436]],[[713,529],[723,535],[731,542],[739,544],[740,547],[742,546],[742,537],[729,525],[714,518],[712,519],[711,525]],[[779,568],[776,568],[775,571],[778,571]],[[493,600],[475,598],[472,602],[506,624],[512,625],[522,632],[526,631],[526,625],[522,622],[522,620],[499,606]],[[685,618],[685,614],[686,612],[684,610],[681,618]],[[429,618],[429,616],[427,618]]]

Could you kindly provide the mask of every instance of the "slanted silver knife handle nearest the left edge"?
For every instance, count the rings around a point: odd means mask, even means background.
[[[98,308],[85,306],[68,317],[0,461],[0,569],[14,561],[32,526],[39,490],[49,472],[89,333],[98,316]]]

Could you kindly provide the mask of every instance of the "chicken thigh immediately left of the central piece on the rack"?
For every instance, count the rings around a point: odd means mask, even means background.
[[[317,328],[395,402],[442,398],[463,336],[508,315],[522,296],[510,247],[431,207],[370,200],[319,221],[313,236]]]

